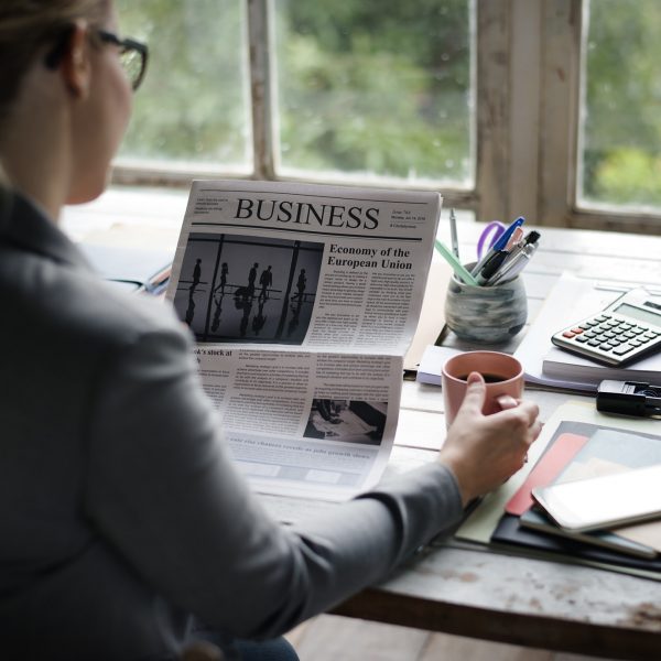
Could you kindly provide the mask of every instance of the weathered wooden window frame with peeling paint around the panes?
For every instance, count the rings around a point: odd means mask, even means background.
[[[118,162],[113,183],[187,187],[191,178],[208,177],[311,181],[277,173],[277,113],[271,109],[278,90],[269,46],[274,43],[274,1],[245,2],[252,171],[141,169]],[[440,184],[445,207],[473,210],[481,220],[522,215],[541,226],[659,234],[661,213],[577,202],[581,56],[589,0],[469,1],[476,39],[475,187]],[[350,183],[393,184],[358,178]],[[411,187],[403,181],[394,185]]]

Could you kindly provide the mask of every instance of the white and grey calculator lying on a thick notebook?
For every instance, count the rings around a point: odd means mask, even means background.
[[[661,299],[644,289],[554,333],[551,342],[585,358],[620,367],[661,350]]]

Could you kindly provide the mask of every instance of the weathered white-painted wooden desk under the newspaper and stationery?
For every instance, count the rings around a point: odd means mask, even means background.
[[[185,199],[159,213],[153,242],[176,241]],[[163,217],[169,226],[163,227]],[[75,221],[77,218],[73,218]],[[75,229],[75,224],[74,224]],[[121,229],[121,227],[120,227]],[[473,257],[478,225],[459,225],[460,251]],[[524,273],[529,318],[563,270],[616,284],[661,283],[661,237],[542,229],[540,249]],[[84,232],[79,232],[83,235]],[[121,231],[119,232],[121,235]],[[661,230],[660,230],[661,234]],[[162,240],[161,240],[162,239]],[[440,294],[440,299],[442,300]],[[523,333],[499,350],[513,351]],[[447,344],[473,348],[453,336]],[[529,389],[542,420],[567,394]],[[585,395],[571,395],[571,399]],[[660,430],[661,430],[661,422]],[[444,430],[440,389],[405,382],[390,472],[432,460]],[[284,520],[330,503],[266,497]],[[606,658],[661,658],[661,583],[486,549],[436,548],[394,576],[334,609],[338,615]]]

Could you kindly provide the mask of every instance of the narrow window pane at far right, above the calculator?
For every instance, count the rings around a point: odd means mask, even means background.
[[[586,6],[579,199],[661,207],[661,2]]]

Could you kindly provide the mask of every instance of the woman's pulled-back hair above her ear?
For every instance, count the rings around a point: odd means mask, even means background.
[[[40,50],[55,45],[76,19],[100,22],[109,4],[110,0],[0,1],[0,122]]]

